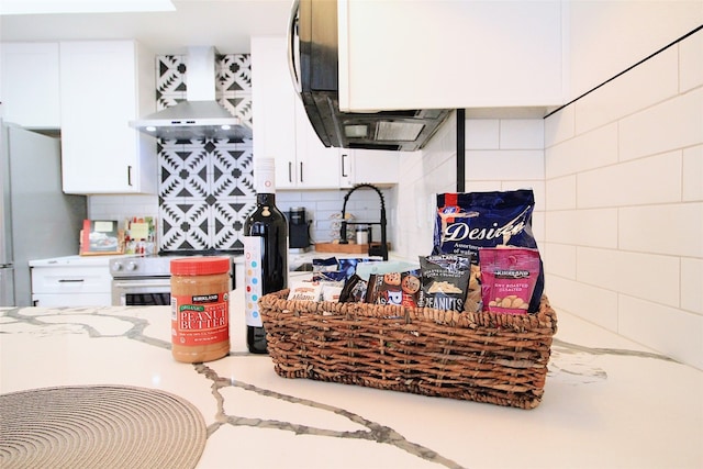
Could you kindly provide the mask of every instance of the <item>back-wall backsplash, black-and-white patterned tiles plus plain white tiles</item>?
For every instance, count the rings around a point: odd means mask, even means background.
[[[250,60],[247,54],[217,57],[215,97],[220,104],[252,125]],[[156,57],[157,107],[163,110],[186,100],[187,56]],[[158,142],[157,196],[91,196],[89,216],[125,220],[158,216],[159,250],[242,250],[246,216],[254,210],[253,142],[216,139]],[[335,214],[342,211],[343,190],[279,191],[278,208],[304,206],[313,242],[332,241]],[[394,231],[395,191],[383,189],[389,208],[389,238]],[[359,191],[347,212],[357,220],[378,220],[378,198]],[[380,239],[376,233],[375,239]]]

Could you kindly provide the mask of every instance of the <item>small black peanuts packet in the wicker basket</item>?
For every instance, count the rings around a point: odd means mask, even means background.
[[[435,310],[464,311],[471,257],[457,254],[420,256],[422,292],[420,305]]]

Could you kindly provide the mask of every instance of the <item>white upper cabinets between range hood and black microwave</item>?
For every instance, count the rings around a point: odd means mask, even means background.
[[[277,189],[341,183],[339,148],[325,147],[308,120],[288,70],[284,37],[252,38],[254,156],[276,158]]]

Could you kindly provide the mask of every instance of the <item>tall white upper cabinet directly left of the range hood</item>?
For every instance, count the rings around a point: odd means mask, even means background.
[[[134,41],[60,43],[67,193],[155,193],[156,139],[129,122],[156,111],[154,55]]]

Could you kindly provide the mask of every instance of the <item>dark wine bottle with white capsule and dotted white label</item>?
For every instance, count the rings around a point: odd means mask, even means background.
[[[246,343],[250,353],[266,354],[266,331],[259,312],[261,295],[288,287],[288,224],[276,208],[272,158],[257,158],[256,210],[244,222]]]

